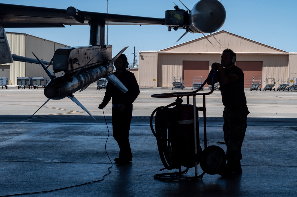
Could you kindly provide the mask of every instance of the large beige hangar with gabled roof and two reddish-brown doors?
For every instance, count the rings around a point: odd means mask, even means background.
[[[194,76],[208,76],[211,64],[221,62],[224,49],[236,53],[235,65],[245,74],[245,87],[250,87],[252,77],[275,78],[275,88],[280,78],[297,77],[297,53],[289,53],[252,41],[241,36],[219,31],[213,36],[198,38],[160,51],[139,52],[138,82],[140,87],[172,87],[173,76],[181,76],[185,87],[193,86]]]

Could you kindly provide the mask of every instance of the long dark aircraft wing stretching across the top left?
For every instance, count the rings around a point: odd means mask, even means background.
[[[91,20],[105,21],[106,25],[165,25],[164,18],[84,12],[74,7],[55,9],[0,4],[0,25],[3,25],[4,28],[89,25]]]

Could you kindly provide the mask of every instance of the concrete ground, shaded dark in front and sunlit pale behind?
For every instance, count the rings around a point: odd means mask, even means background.
[[[104,89],[96,90],[92,84],[75,94],[97,121],[67,98],[50,100],[30,118],[46,101],[43,88],[1,89],[0,196],[296,196],[296,92],[246,90],[251,113],[242,147],[241,175],[155,179],[155,174],[178,172],[159,171],[164,165],[149,123],[156,107],[175,99],[150,95],[174,91],[182,90],[141,88],[133,104],[130,131],[133,161],[118,165],[113,161],[119,148],[112,137],[111,104],[104,109],[107,124],[103,111],[97,108]],[[220,100],[219,91],[206,97],[207,146],[226,151],[226,145],[219,143],[224,141]],[[197,98],[197,106],[201,103]],[[201,115],[199,135],[204,149]],[[184,177],[194,175],[194,168],[190,168]]]

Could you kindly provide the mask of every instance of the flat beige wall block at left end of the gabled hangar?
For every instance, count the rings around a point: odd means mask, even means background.
[[[158,54],[157,53],[141,53],[139,54],[139,75],[138,84],[140,87],[157,87],[159,79],[158,72]]]

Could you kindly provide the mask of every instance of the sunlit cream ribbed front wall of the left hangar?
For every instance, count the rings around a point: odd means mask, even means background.
[[[6,33],[11,54],[26,56],[26,34]],[[26,76],[26,64],[14,61],[10,65],[10,83],[17,84],[17,77]]]

